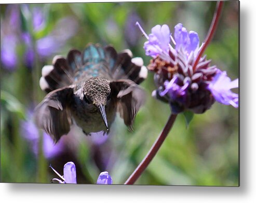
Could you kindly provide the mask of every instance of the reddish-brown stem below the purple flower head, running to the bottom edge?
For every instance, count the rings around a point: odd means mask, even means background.
[[[133,171],[132,175],[127,179],[125,182],[125,185],[132,185],[142,174],[142,172],[146,169],[147,166],[149,166],[150,162],[158,152],[159,148],[161,147],[161,144],[165,141],[165,138],[167,137],[168,133],[170,132],[170,129],[176,120],[177,114],[171,114],[163,131],[158,136],[156,141],[154,142],[153,146],[151,147],[150,151],[146,154],[140,165]]]

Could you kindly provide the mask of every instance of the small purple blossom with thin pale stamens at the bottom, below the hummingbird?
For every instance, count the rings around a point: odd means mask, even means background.
[[[64,165],[63,168],[63,176],[61,176],[55,169],[53,169],[51,166],[50,168],[61,178],[53,178],[51,179],[51,182],[53,180],[59,181],[59,183],[70,183],[70,184],[76,184],[76,167],[73,162],[68,162]]]

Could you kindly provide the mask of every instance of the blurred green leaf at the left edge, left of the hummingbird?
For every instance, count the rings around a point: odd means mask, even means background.
[[[17,113],[21,119],[25,119],[24,107],[16,97],[6,91],[1,91],[1,103],[5,104],[7,110]]]

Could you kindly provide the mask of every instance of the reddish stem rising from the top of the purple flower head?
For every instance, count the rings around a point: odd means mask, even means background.
[[[201,55],[203,55],[206,47],[209,45],[209,43],[211,41],[211,38],[212,38],[216,28],[217,28],[217,24],[218,24],[219,19],[220,19],[221,9],[222,9],[223,3],[224,3],[223,1],[217,2],[216,9],[215,9],[215,12],[214,12],[214,16],[213,16],[212,21],[211,21],[211,26],[210,26],[208,34],[207,34],[207,36],[205,38],[204,45],[200,49],[200,51],[199,51],[199,53],[198,53],[198,55],[196,57],[196,61],[195,61],[194,65],[193,65],[193,70],[194,71],[196,69],[196,66],[197,66],[199,60],[200,60]]]

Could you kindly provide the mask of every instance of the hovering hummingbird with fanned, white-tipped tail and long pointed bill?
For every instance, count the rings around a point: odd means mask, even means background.
[[[73,124],[86,135],[108,133],[116,112],[131,129],[145,100],[138,84],[146,77],[143,60],[128,49],[117,53],[112,46],[89,44],[66,59],[57,55],[42,68],[39,85],[48,94],[35,109],[36,124],[55,142]]]

